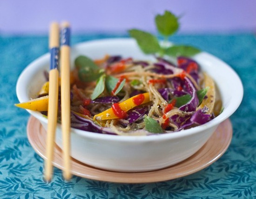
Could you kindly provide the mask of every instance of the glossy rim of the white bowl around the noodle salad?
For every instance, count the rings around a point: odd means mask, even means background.
[[[135,43],[134,39],[131,38],[114,38],[114,39],[95,39],[95,40],[90,40],[90,41],[85,41],[85,42],[81,42],[78,43],[74,46],[71,47],[71,51],[74,49],[79,49],[81,47],[83,47],[84,45],[94,45],[94,44],[104,44],[104,43],[109,43],[109,42],[128,42],[128,43]],[[35,59],[33,62],[31,62],[30,64],[27,65],[27,67],[20,73],[20,76],[18,77],[17,83],[16,83],[16,95],[21,102],[24,102],[24,98],[26,98],[26,91],[27,88],[24,88],[24,86],[22,86],[22,83],[25,81],[26,82],[26,75],[32,73],[31,69],[33,69],[34,72],[36,72],[38,70],[38,65],[43,65],[46,63],[46,60],[48,60],[50,57],[49,52],[47,52],[46,54],[40,56],[39,58]],[[223,65],[223,67],[225,67],[226,70],[229,71],[230,75],[232,75],[233,79],[236,80],[236,98],[232,98],[232,107],[229,104],[229,106],[227,106],[227,108],[225,108],[223,110],[223,112],[217,116],[216,118],[214,118],[213,120],[194,127],[194,128],[189,128],[186,130],[181,130],[179,132],[174,132],[174,133],[166,133],[166,134],[156,134],[156,135],[142,135],[142,136],[138,136],[138,135],[108,135],[108,134],[100,134],[100,133],[95,133],[95,132],[88,132],[88,131],[83,131],[80,129],[76,129],[76,128],[72,128],[73,130],[71,131],[72,133],[76,133],[78,135],[81,135],[83,137],[90,137],[90,138],[97,138],[97,139],[101,139],[101,140],[115,140],[115,141],[161,141],[161,140],[167,140],[167,139],[177,139],[177,138],[181,138],[181,137],[185,137],[187,135],[192,135],[192,134],[196,134],[197,132],[201,132],[203,130],[206,130],[208,128],[212,128],[214,126],[219,125],[221,122],[223,122],[224,120],[226,120],[227,118],[229,118],[229,116],[231,116],[236,109],[238,109],[239,105],[241,104],[242,100],[243,100],[243,84],[242,81],[240,79],[240,77],[237,75],[236,71],[234,71],[234,69],[232,69],[228,64],[226,64],[225,62],[223,62],[221,59],[217,58],[216,56],[209,54],[208,52],[202,51],[200,53],[198,53],[197,55],[195,55],[194,57],[195,59],[200,59],[200,58],[210,58],[210,59],[214,59],[217,60],[219,63],[221,63]],[[40,67],[39,67],[40,68]],[[47,118],[45,116],[43,116],[41,113],[37,112],[37,111],[33,111],[33,110],[28,110],[26,109],[32,116],[36,117],[37,119],[39,119],[40,121],[47,123]],[[61,124],[57,124],[57,127],[61,128]]]

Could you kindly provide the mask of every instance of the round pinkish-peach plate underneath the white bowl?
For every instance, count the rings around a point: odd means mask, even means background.
[[[194,155],[171,167],[156,171],[141,173],[112,172],[88,166],[72,158],[71,173],[87,179],[119,183],[148,183],[172,180],[202,170],[218,160],[229,147],[232,133],[232,124],[227,119],[218,126],[209,140]],[[46,131],[33,116],[29,118],[27,123],[27,137],[35,152],[46,159]],[[53,165],[63,170],[61,156],[61,149],[55,146]]]

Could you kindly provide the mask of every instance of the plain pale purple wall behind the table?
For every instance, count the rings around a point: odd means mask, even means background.
[[[154,16],[181,15],[180,32],[254,32],[256,0],[0,0],[0,34],[44,34],[51,21],[72,31],[155,31]]]

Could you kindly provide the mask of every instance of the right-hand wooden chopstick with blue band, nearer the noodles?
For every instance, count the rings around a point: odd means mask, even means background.
[[[61,127],[64,173],[66,180],[70,173],[70,27],[67,22],[61,28]]]

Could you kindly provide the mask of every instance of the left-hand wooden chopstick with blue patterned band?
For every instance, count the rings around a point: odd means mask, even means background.
[[[59,25],[53,22],[50,26],[49,49],[51,52],[50,71],[49,71],[49,103],[48,103],[48,126],[46,140],[46,162],[45,180],[52,179],[53,154],[55,130],[57,125],[58,111],[58,92],[59,92],[59,45],[60,45]]]

